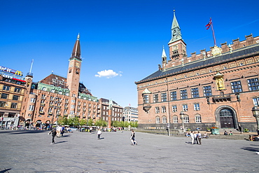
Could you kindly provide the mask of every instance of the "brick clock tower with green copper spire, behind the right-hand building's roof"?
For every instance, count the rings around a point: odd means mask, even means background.
[[[172,38],[168,43],[169,53],[171,60],[181,60],[183,57],[186,57],[186,43],[184,43],[181,36],[181,29],[176,20],[176,14],[174,11],[174,20],[172,22]]]

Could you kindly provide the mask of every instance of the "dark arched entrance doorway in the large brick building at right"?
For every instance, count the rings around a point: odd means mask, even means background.
[[[222,109],[220,111],[221,128],[235,128],[233,111],[230,109]]]

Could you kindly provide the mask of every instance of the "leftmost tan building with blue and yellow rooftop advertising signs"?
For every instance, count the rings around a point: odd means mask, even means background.
[[[22,72],[0,66],[0,126],[17,127],[25,95]]]

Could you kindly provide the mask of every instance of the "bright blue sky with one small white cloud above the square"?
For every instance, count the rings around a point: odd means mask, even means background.
[[[32,73],[40,81],[52,71],[66,77],[80,33],[80,81],[98,98],[137,107],[137,85],[158,70],[162,46],[169,56],[173,11],[190,53],[259,36],[259,1],[44,0],[0,1],[0,65]],[[107,76],[111,74],[111,76]]]

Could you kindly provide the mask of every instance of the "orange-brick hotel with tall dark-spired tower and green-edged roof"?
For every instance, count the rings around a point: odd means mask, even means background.
[[[79,82],[81,62],[78,34],[69,58],[66,78],[50,74],[34,83],[33,74],[27,74],[20,125],[48,126],[57,124],[58,118],[63,116],[94,120],[99,117],[99,100]]]

